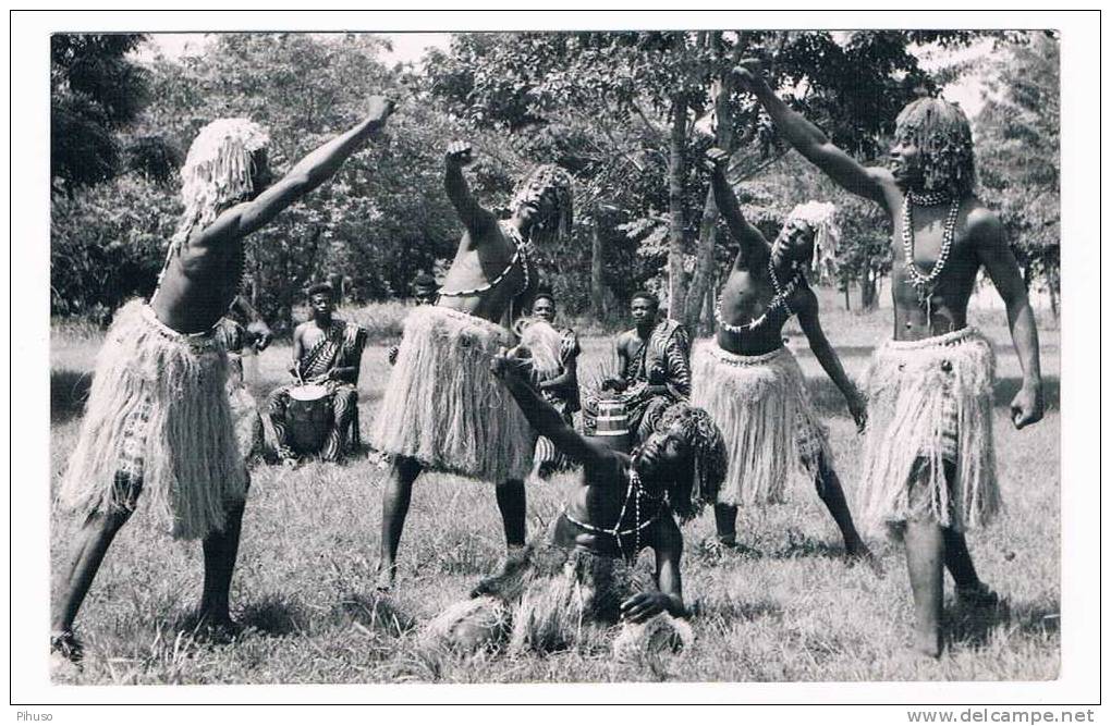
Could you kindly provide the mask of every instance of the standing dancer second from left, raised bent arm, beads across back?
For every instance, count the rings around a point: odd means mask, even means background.
[[[536,291],[532,243],[570,233],[571,177],[538,168],[499,221],[471,195],[463,167],[471,147],[454,142],[444,158],[444,186],[466,232],[436,305],[406,320],[397,364],[371,436],[390,457],[382,501],[378,587],[389,589],[413,481],[426,468],[496,483],[498,508],[512,549],[524,546],[524,476],[533,432],[490,375],[490,356],[512,343],[513,321]]]

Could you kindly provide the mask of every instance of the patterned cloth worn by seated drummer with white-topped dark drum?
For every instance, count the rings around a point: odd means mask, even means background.
[[[362,360],[362,349],[367,344],[367,331],[354,323],[333,320],[328,334],[312,346],[299,361],[301,377],[306,382],[326,375],[337,367],[354,366],[358,371]],[[358,376],[358,372],[356,373]],[[359,393],[347,381],[320,381],[332,393],[332,427],[320,456],[324,461],[339,461],[347,444],[347,433],[352,428],[352,442],[358,444]],[[273,426],[276,448],[282,460],[294,457],[289,446],[289,391],[299,385],[291,383],[276,389],[267,399],[267,414]]]

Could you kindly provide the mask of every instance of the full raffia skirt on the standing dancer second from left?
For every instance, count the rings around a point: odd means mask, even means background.
[[[536,434],[490,360],[512,337],[496,323],[414,309],[374,421],[379,451],[487,482],[524,478]]]

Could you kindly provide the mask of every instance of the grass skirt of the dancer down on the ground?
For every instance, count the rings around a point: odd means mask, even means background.
[[[550,542],[533,543],[511,556],[506,571],[484,579],[477,597],[453,605],[426,628],[429,642],[456,651],[546,653],[601,641],[620,619],[621,603],[651,587],[620,558]],[[690,624],[661,613],[640,624],[623,623],[612,643],[620,657],[679,649],[694,639]]]

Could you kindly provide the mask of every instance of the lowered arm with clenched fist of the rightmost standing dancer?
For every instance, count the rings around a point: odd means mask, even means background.
[[[999,218],[987,210],[979,210],[969,214],[968,224],[969,234],[975,241],[977,256],[1007,304],[1007,322],[1022,366],[1022,387],[1011,401],[1011,421],[1015,428],[1022,428],[1041,421],[1045,413],[1034,312],[1030,307],[1019,264],[1003,239],[1003,225]]]

